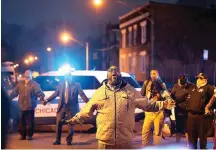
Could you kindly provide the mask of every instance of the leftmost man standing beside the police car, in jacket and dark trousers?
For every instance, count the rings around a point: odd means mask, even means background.
[[[34,134],[34,111],[37,106],[37,99],[44,101],[44,93],[42,92],[40,85],[32,80],[32,71],[26,70],[24,74],[25,80],[19,82],[12,93],[10,98],[19,95],[18,103],[20,108],[19,113],[19,132],[20,140],[32,140]]]

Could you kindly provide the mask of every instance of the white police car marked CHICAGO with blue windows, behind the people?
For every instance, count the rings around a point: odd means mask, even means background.
[[[72,80],[79,82],[86,96],[91,99],[93,93],[101,86],[102,82],[107,78],[107,71],[73,71]],[[121,72],[124,81],[140,91],[141,87],[138,82],[130,76],[130,74]],[[55,91],[60,80],[64,78],[64,71],[51,71],[43,73],[36,77],[34,80],[40,84],[41,89],[45,94],[45,99],[48,98]],[[52,100],[46,106],[42,105],[38,101],[38,105],[35,109],[35,123],[36,125],[52,125],[55,124],[56,111],[58,106],[59,97]],[[17,103],[17,98],[13,99]],[[85,102],[78,97],[79,108],[82,109],[85,106]],[[141,109],[136,109],[135,114],[143,112]],[[94,112],[96,114],[96,112]],[[92,119],[87,120],[85,123],[94,124],[95,116]]]

